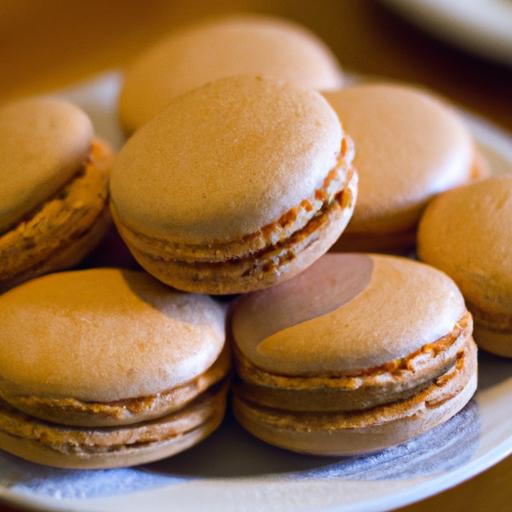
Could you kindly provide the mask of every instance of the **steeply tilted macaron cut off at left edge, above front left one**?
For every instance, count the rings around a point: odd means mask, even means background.
[[[77,264],[110,225],[112,152],[78,107],[0,107],[0,290]]]

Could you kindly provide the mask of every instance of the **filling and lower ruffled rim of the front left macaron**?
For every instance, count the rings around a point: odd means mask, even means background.
[[[63,454],[108,454],[126,447],[143,448],[153,443],[179,439],[213,423],[224,415],[226,384],[218,385],[187,407],[162,418],[117,428],[80,429],[36,420],[0,403],[0,431],[36,442]]]

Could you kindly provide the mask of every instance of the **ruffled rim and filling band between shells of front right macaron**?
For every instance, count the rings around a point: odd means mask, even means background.
[[[239,393],[263,405],[292,410],[368,409],[408,398],[452,368],[472,332],[466,313],[453,330],[405,357],[348,374],[278,375],[258,368],[236,348]]]

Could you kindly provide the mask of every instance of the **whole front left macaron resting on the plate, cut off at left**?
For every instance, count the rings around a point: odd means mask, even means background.
[[[131,466],[220,424],[225,309],[143,272],[39,277],[0,296],[0,448],[56,467]]]

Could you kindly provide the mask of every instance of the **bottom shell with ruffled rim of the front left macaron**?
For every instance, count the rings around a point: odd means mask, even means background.
[[[127,467],[182,452],[222,422],[227,384],[164,418],[107,429],[62,427],[0,405],[0,448],[22,459],[70,469]],[[116,442],[117,441],[117,442]]]

